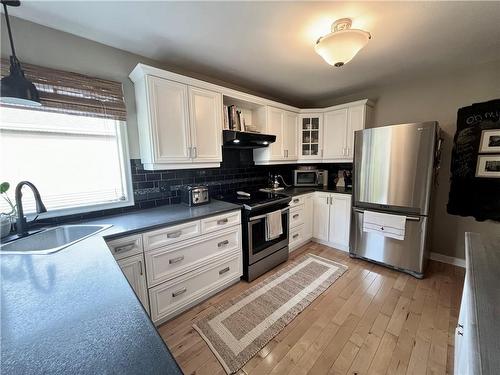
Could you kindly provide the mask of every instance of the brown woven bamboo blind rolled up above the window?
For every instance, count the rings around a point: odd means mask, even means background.
[[[24,63],[21,63],[21,66],[26,78],[38,89],[42,102],[41,107],[24,108],[126,120],[127,111],[120,82]],[[9,74],[9,67],[9,61],[1,59],[2,78]],[[7,104],[2,105],[7,106]]]

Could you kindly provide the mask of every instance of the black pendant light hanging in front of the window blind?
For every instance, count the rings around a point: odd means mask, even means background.
[[[14,48],[14,40],[12,39],[12,31],[10,29],[8,6],[18,7],[20,1],[5,1],[1,0],[5,13],[5,21],[7,23],[7,31],[9,33],[10,48],[12,55],[10,56],[10,74],[2,78],[0,83],[1,94],[0,102],[5,104],[18,104],[28,106],[40,106],[40,95],[35,85],[24,76],[24,71],[21,63],[17,59],[16,50]]]

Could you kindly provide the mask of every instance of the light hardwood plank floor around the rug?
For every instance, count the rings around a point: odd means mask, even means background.
[[[349,270],[239,374],[453,373],[462,268],[431,261],[427,277],[417,280],[313,242],[290,254],[290,260],[307,252]],[[235,284],[159,327],[185,374],[225,374],[191,326],[267,276]]]

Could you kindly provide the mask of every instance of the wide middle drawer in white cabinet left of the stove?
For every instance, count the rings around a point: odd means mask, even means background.
[[[221,257],[228,252],[240,249],[241,226],[237,226],[148,251],[146,253],[148,285],[151,287],[173,279],[209,262],[221,260]]]

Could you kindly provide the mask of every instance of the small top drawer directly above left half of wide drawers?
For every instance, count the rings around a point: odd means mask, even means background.
[[[147,232],[144,233],[144,250],[149,251],[157,249],[200,234],[199,220]]]

